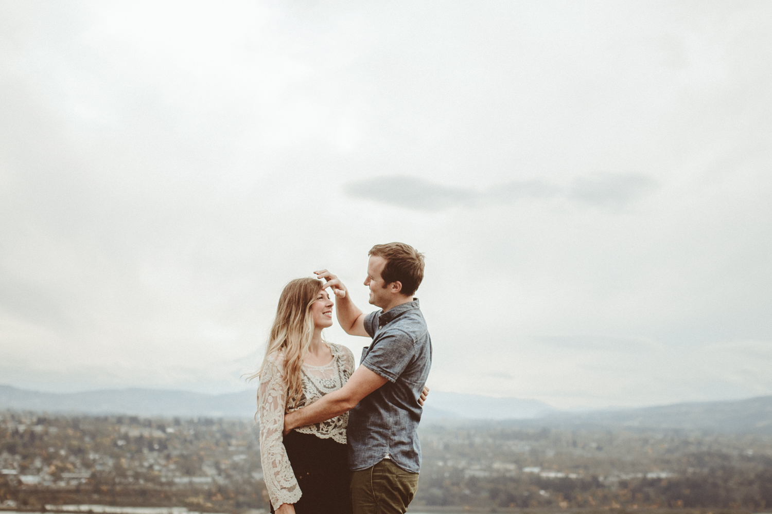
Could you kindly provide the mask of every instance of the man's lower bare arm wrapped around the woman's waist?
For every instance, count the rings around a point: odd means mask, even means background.
[[[364,331],[364,326],[362,330]],[[362,398],[380,388],[386,381],[386,378],[378,373],[360,366],[342,388],[324,395],[311,405],[285,415],[284,433],[287,434],[293,428],[313,425],[349,412]]]

